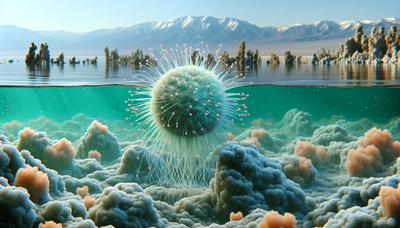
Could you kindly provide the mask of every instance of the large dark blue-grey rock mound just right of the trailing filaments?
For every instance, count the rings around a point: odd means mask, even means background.
[[[230,211],[247,215],[256,208],[280,213],[307,210],[301,188],[285,177],[279,163],[254,147],[229,144],[222,148],[212,189],[217,213],[223,218],[228,218]]]

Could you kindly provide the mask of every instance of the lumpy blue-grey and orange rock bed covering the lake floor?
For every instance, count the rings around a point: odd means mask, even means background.
[[[115,140],[121,154],[108,164],[96,161],[96,152],[87,158],[90,150],[83,159],[72,159],[67,169],[55,171],[58,167],[47,167],[33,155],[35,151],[48,161],[44,151],[65,137],[63,127],[76,139],[71,144],[79,145],[91,121],[82,115],[57,124],[41,118],[30,121],[28,126],[38,131],[23,130],[22,140],[10,143],[8,135],[0,136],[0,208],[5,208],[0,210],[0,227],[255,228],[293,224],[285,222],[289,217],[297,227],[399,226],[398,118],[379,124],[366,119],[318,121],[291,110],[282,121],[263,119],[256,128],[233,131],[237,136],[232,133],[212,153],[209,186],[155,185],[154,179],[168,173],[152,176],[149,171],[154,166],[162,171],[168,154],[155,153],[135,138]],[[120,123],[104,123],[116,135],[126,134]],[[43,129],[49,137],[39,134]],[[59,137],[54,137],[55,130]],[[25,149],[13,146],[19,143]],[[347,166],[356,167],[353,174]],[[47,175],[51,201],[32,201],[29,190],[14,186],[17,171],[27,167]],[[271,210],[277,211],[274,216]],[[267,215],[273,219],[265,221]]]

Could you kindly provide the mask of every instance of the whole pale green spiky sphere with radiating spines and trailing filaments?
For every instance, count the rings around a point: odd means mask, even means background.
[[[248,115],[247,95],[232,90],[247,83],[208,53],[196,53],[162,49],[156,66],[135,75],[126,101],[143,144],[164,161],[147,177],[160,185],[207,185],[215,166],[210,154]]]

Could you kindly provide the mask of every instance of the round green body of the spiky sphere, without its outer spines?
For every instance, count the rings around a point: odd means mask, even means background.
[[[188,137],[216,128],[226,104],[222,81],[213,71],[193,65],[166,72],[151,97],[151,111],[159,125]]]

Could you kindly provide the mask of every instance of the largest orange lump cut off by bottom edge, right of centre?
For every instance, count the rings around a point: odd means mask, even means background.
[[[280,215],[276,211],[268,211],[265,213],[263,220],[258,225],[259,228],[295,228],[296,218],[290,214],[285,213]]]

